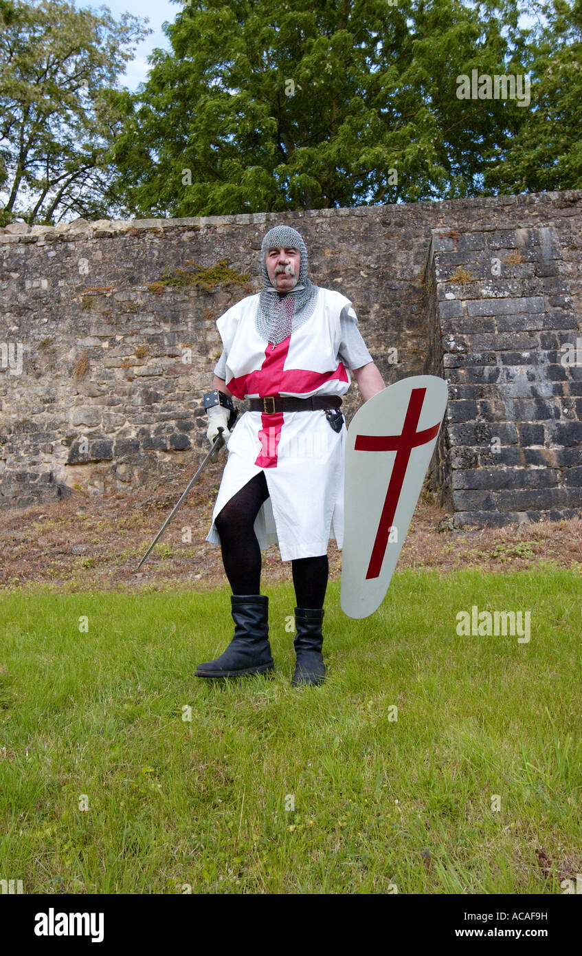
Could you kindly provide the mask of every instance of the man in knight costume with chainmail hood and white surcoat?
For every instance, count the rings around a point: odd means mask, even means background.
[[[217,321],[223,353],[204,403],[212,443],[223,429],[228,457],[207,541],[220,544],[232,590],[232,641],[198,677],[273,669],[269,598],[261,595],[261,551],[278,544],[295,590],[293,686],[321,684],[328,541],[343,539],[347,430],[339,411],[353,372],[364,402],[385,387],[345,295],[313,286],[308,253],[289,226],[261,246],[263,289]],[[231,397],[249,411],[228,431]]]

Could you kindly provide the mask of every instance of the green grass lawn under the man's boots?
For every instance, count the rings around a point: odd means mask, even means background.
[[[578,574],[404,572],[361,621],[332,584],[329,679],[300,690],[291,586],[265,593],[275,676],[233,682],[193,677],[232,636],[227,591],[2,598],[1,879],[556,894],[582,873]],[[472,604],[530,610],[531,640],[459,637]]]

